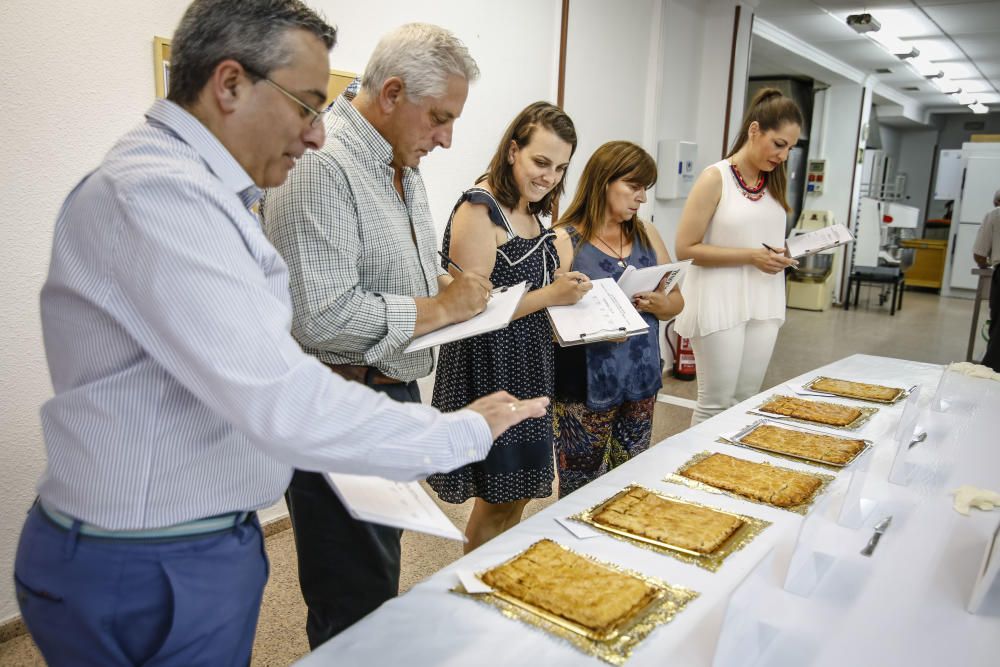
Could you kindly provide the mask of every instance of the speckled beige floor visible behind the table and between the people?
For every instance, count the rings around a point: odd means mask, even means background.
[[[764,386],[774,386],[858,352],[932,363],[965,359],[972,316],[971,301],[907,292],[903,309],[890,316],[888,306],[880,307],[874,295],[872,297],[867,304],[863,299],[859,309],[848,312],[839,308],[821,313],[789,310]],[[667,377],[663,392],[693,399],[697,383]],[[691,412],[686,408],[658,403],[654,415],[653,442],[684,430],[690,417]],[[435,497],[433,493],[431,496]],[[527,514],[537,512],[553,500],[554,497],[551,497],[531,503]],[[471,501],[463,505],[441,505],[456,524],[465,525],[472,508]],[[271,558],[271,578],[264,592],[254,646],[255,667],[288,665],[308,650],[303,630],[305,607],[296,581],[291,532],[285,531],[268,538],[267,551]],[[403,537],[401,589],[408,590],[459,556],[461,545],[456,542],[406,533]],[[30,638],[23,636],[0,644],[0,664],[14,667],[44,663]]]

